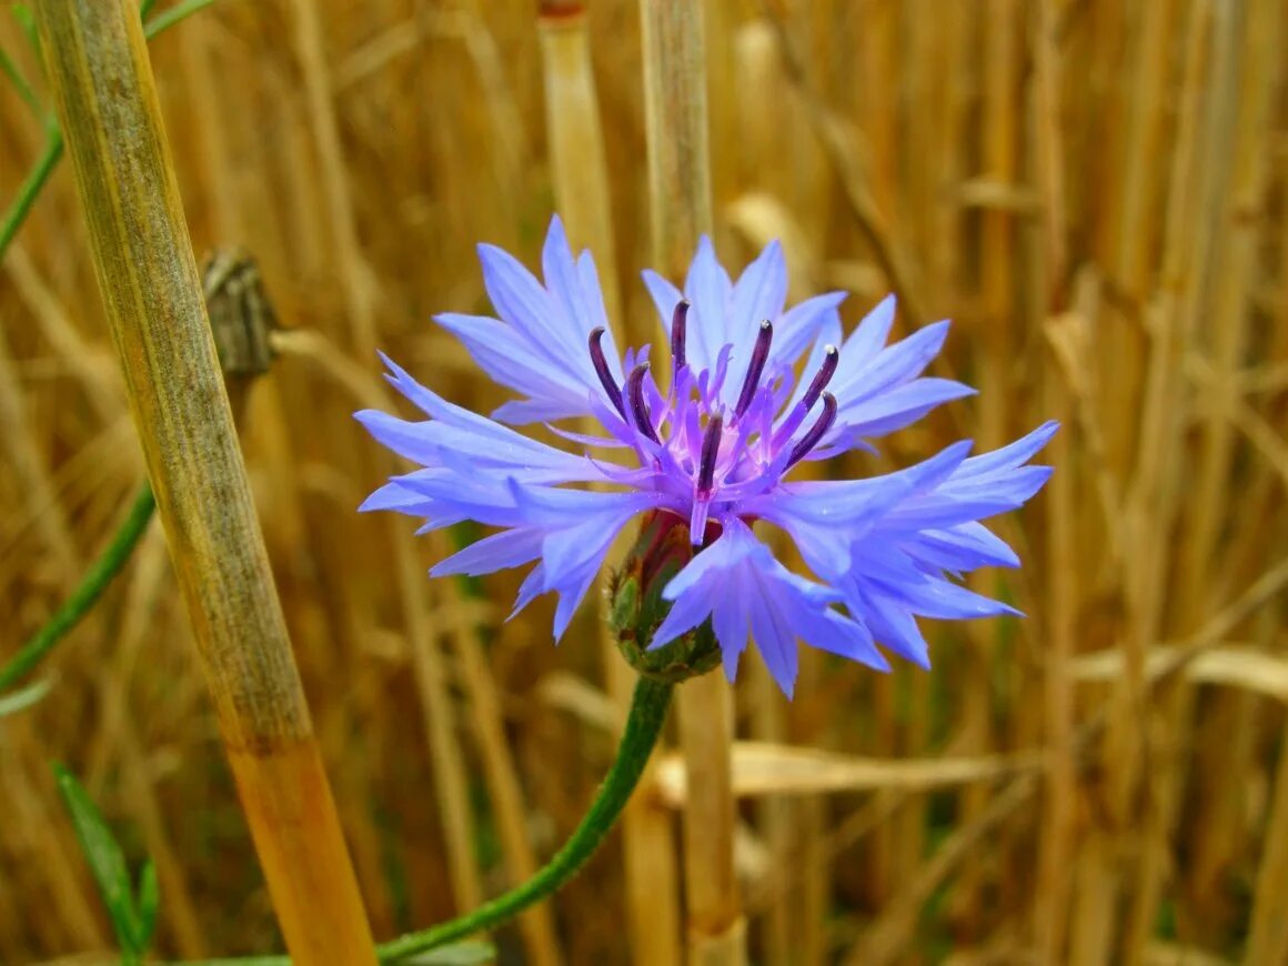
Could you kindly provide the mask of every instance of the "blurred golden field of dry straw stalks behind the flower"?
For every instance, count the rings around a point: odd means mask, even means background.
[[[547,858],[620,725],[592,605],[556,649],[550,601],[504,621],[516,580],[426,578],[460,535],[354,513],[398,470],[350,417],[393,407],[376,348],[504,398],[430,321],[489,312],[475,242],[532,265],[564,211],[611,240],[620,334],[657,332],[639,6],[541,6],[216,0],[151,44],[197,254],[250,252],[287,330],[242,442],[380,938]],[[848,325],[895,290],[980,389],[844,469],[1064,422],[997,527],[1024,568],[979,581],[1027,620],[927,622],[931,674],[804,652],[792,703],[744,663],[751,961],[1288,961],[1285,8],[706,0],[725,264],[779,238]],[[40,76],[3,15],[0,49]],[[0,84],[5,205],[43,138]],[[143,480],[82,225],[63,164],[0,264],[0,658]],[[112,948],[55,759],[156,860],[160,954],[279,949],[160,527],[41,674],[0,721],[0,962]],[[614,833],[501,962],[681,961],[681,777],[639,792],[650,862]]]

